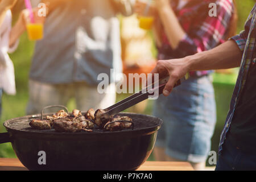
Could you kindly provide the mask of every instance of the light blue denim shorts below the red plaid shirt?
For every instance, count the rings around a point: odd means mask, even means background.
[[[191,77],[155,100],[153,115],[163,119],[156,146],[171,158],[204,162],[216,123],[216,103],[210,76]]]

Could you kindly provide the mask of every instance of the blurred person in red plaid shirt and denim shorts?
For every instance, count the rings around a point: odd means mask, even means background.
[[[217,17],[209,16],[209,3],[216,3]],[[135,5],[143,13],[143,3]],[[158,59],[169,60],[193,55],[224,43],[234,19],[232,0],[158,0],[149,14],[154,16]],[[163,119],[154,149],[156,160],[188,161],[204,169],[210,139],[216,123],[212,71],[189,72],[190,77],[165,98],[154,102],[153,115]]]

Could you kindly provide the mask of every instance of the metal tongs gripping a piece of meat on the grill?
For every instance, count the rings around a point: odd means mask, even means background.
[[[179,86],[181,82],[187,80],[187,78],[188,74],[185,77],[181,78],[179,81],[177,81],[174,87]],[[154,82],[153,84],[131,95],[130,97],[127,97],[124,100],[119,101],[112,106],[109,106],[108,108],[104,109],[105,113],[102,114],[102,117],[106,119],[110,118],[112,115],[117,114],[131,106],[138,104],[139,102],[146,100],[148,97],[154,96],[156,90],[158,90],[159,95],[162,94],[168,80],[169,77],[162,78],[161,80]]]

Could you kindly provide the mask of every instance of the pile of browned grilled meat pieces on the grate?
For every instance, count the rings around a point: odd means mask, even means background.
[[[52,116],[47,115],[46,119],[34,119],[30,122],[30,126],[38,130],[47,130],[53,127],[57,132],[79,132],[92,131],[94,126],[107,131],[118,131],[122,129],[129,129],[133,126],[132,119],[126,116],[111,116],[104,115],[105,110],[89,109],[85,115],[82,115],[80,110],[74,109],[69,115],[64,110],[59,110]],[[95,124],[95,125],[94,125]]]

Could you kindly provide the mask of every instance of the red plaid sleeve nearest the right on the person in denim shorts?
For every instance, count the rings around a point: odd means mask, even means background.
[[[176,51],[180,51],[184,56],[193,55],[212,49],[224,41],[226,30],[232,18],[233,3],[232,1],[219,0],[216,1],[216,5],[217,16],[207,16],[199,26],[185,35]]]

